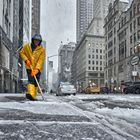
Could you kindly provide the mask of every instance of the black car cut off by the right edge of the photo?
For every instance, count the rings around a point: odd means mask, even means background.
[[[123,92],[125,94],[140,94],[140,82],[126,82]]]

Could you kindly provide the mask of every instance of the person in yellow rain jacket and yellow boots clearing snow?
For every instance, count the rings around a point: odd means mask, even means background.
[[[38,89],[34,76],[36,76],[39,81],[45,59],[45,49],[41,45],[41,42],[41,35],[35,34],[32,37],[31,44],[25,44],[20,51],[20,57],[25,62],[28,75],[28,92],[26,98],[32,101],[37,100],[36,96]]]

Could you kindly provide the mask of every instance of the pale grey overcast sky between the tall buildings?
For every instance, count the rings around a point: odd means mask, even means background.
[[[58,54],[61,41],[75,42],[76,0],[41,0],[41,35],[47,43],[47,56]],[[57,57],[50,60],[57,70]]]

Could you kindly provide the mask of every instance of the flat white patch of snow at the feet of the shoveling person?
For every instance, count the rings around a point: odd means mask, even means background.
[[[25,110],[37,114],[81,116],[81,114],[72,106],[67,103],[60,102],[0,102],[0,108]]]

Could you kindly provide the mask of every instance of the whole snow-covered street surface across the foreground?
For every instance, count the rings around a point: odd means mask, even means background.
[[[140,95],[0,94],[0,140],[138,140]]]

